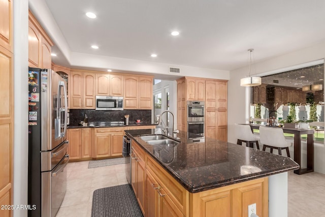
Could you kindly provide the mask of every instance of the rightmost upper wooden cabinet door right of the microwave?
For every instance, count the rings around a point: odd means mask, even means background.
[[[139,109],[152,109],[152,78],[139,78]]]

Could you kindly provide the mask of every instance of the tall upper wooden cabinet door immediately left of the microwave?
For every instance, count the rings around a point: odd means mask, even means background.
[[[83,73],[83,108],[95,109],[95,74]]]

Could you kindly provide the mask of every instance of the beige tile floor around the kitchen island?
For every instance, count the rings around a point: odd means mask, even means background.
[[[67,193],[56,217],[90,217],[96,189],[126,184],[124,165],[88,169],[89,161],[67,166]],[[288,217],[325,217],[325,175],[288,173]]]

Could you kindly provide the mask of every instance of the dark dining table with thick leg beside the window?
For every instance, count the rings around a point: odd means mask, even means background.
[[[279,128],[279,127],[269,127],[266,125],[257,125],[254,123],[244,123],[244,125],[249,125],[251,130],[259,129],[259,127],[268,128]],[[303,129],[303,128],[284,128],[281,127],[283,133],[289,133],[294,135],[294,161],[299,164],[300,168],[295,170],[296,174],[304,174],[314,171],[314,130],[313,129]],[[301,167],[301,136],[307,135],[307,168]]]

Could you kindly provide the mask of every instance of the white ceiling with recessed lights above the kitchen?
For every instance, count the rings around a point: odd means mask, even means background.
[[[42,1],[71,52],[231,71],[325,41],[324,0]]]

